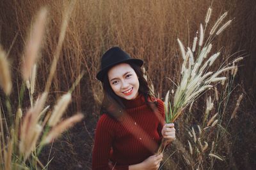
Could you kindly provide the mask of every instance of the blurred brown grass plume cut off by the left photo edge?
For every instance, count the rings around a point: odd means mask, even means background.
[[[12,91],[12,78],[10,73],[9,62],[6,58],[6,52],[0,46],[0,86],[4,93],[9,96]]]

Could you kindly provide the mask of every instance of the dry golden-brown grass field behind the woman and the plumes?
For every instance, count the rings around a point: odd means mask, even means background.
[[[214,50],[221,48],[221,57],[214,67],[226,59],[232,60],[239,55],[246,56],[239,64],[234,80],[234,91],[227,104],[227,117],[236,107],[241,93],[243,101],[237,117],[228,124],[228,143],[220,143],[225,161],[216,160],[212,169],[253,169],[256,156],[256,2],[253,0],[84,0],[84,1],[1,1],[0,43],[8,51],[12,64],[13,92],[15,101],[21,83],[20,66],[26,46],[26,38],[35,19],[36,12],[46,6],[47,26],[44,45],[38,64],[35,96],[44,91],[44,85],[53,60],[60,35],[60,25],[70,3],[74,4],[67,32],[58,61],[56,74],[50,89],[52,104],[56,97],[67,92],[81,71],[85,74],[72,94],[67,115],[82,111],[86,118],[76,127],[57,139],[52,146],[45,148],[40,159],[47,162],[54,157],[49,169],[90,169],[92,159],[93,133],[99,118],[102,89],[95,79],[99,69],[100,56],[109,47],[118,45],[132,57],[145,61],[145,69],[152,80],[156,94],[163,99],[169,89],[175,89],[173,83],[180,78],[181,57],[177,38],[188,46],[193,42],[195,32],[205,20],[209,6],[212,16],[208,29],[228,11],[227,18],[234,19],[230,27],[214,41]],[[208,30],[209,32],[209,30]],[[221,85],[218,85],[221,89]],[[4,100],[0,91],[1,103]],[[28,95],[25,99],[28,99]],[[188,148],[182,134],[185,127],[191,127],[202,119],[205,110],[205,96],[193,105],[193,115],[177,120],[177,138]],[[3,99],[3,100],[2,100]],[[26,101],[26,100],[24,100]],[[17,104],[13,103],[14,105]],[[26,105],[26,104],[25,104]],[[29,105],[29,103],[27,103]],[[4,110],[4,107],[2,107]],[[228,115],[229,114],[229,115]],[[183,121],[186,120],[186,121]],[[183,122],[182,122],[183,121]],[[224,121],[223,121],[224,122]],[[224,124],[224,123],[223,123]],[[180,129],[180,130],[179,130]],[[179,134],[180,133],[180,134]],[[221,146],[225,145],[225,146]],[[175,151],[175,147],[170,148]],[[221,149],[220,149],[221,150]],[[170,151],[170,152],[171,152]],[[179,152],[173,154],[166,169],[191,169]]]

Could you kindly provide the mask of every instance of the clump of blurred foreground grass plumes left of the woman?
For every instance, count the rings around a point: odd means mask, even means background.
[[[70,7],[71,8],[71,7]],[[69,8],[69,10],[70,10]],[[72,8],[71,8],[72,9]],[[69,15],[69,14],[68,14]],[[68,15],[63,19],[63,24],[58,41],[54,62],[51,65],[50,75],[45,85],[45,91],[33,103],[33,94],[35,92],[36,81],[36,60],[42,38],[44,35],[44,25],[47,17],[47,10],[42,8],[36,17],[35,23],[31,29],[31,35],[26,41],[24,50],[24,60],[22,64],[23,83],[20,87],[20,93],[16,94],[17,113],[13,113],[15,106],[11,103],[10,94],[12,93],[12,80],[9,62],[6,52],[0,48],[0,86],[2,87],[6,97],[6,110],[0,110],[0,166],[1,169],[47,169],[49,162],[44,166],[38,156],[42,148],[51,143],[55,138],[60,136],[62,132],[72,127],[84,117],[78,113],[66,120],[61,120],[64,111],[67,109],[68,103],[71,101],[71,93],[81,80],[81,76],[73,84],[67,94],[63,95],[58,103],[54,106],[54,110],[48,111],[49,106],[45,107],[49,87],[51,86],[52,77],[56,71],[56,64],[60,56],[60,49],[63,39],[65,38],[65,29],[67,28]],[[29,90],[30,108],[26,114],[22,114],[23,98],[25,91],[25,83]],[[2,103],[1,103],[2,105]],[[46,113],[47,112],[47,113]],[[6,117],[8,115],[8,117]]]

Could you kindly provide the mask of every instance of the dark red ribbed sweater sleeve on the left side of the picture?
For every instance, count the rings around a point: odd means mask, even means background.
[[[115,137],[116,122],[107,115],[102,115],[97,123],[92,152],[92,169],[109,170],[109,155]],[[113,165],[115,166],[115,165]],[[116,170],[127,170],[128,166],[115,166]]]

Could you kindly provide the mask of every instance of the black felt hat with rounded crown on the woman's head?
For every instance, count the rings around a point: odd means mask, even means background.
[[[101,69],[99,73],[97,73],[96,78],[100,81],[103,81],[105,74],[108,73],[108,69],[122,62],[132,62],[140,67],[143,64],[143,60],[132,59],[128,53],[124,52],[118,46],[114,46],[102,55],[100,67]]]

